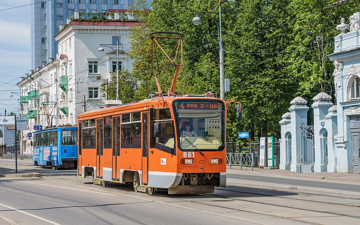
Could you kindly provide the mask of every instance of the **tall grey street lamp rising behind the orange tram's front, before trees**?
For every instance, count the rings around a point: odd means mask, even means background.
[[[199,14],[203,14],[206,15],[205,13],[219,13],[219,24],[220,24],[220,28],[217,25],[216,21],[216,27],[217,27],[217,37],[220,37],[219,40],[219,67],[220,67],[220,99],[224,100],[224,42],[222,42],[222,36],[221,36],[221,4],[224,3],[227,0],[222,0],[219,3],[219,12],[195,12],[195,13],[199,13]],[[195,26],[198,26],[201,23],[201,18],[196,16],[193,18],[193,24]]]

